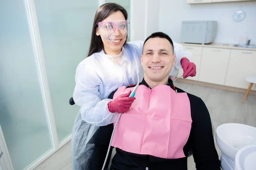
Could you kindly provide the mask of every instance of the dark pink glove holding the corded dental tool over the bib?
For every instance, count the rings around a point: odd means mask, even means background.
[[[121,94],[116,99],[108,103],[108,110],[111,113],[124,113],[128,111],[131,107],[131,104],[136,99],[135,97],[129,97],[131,91],[127,94]]]

